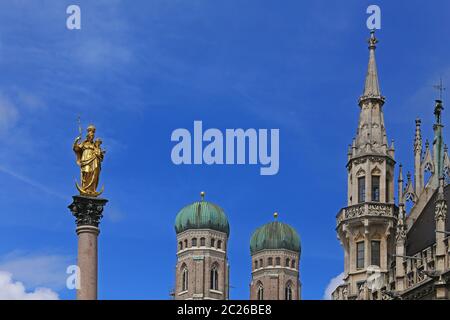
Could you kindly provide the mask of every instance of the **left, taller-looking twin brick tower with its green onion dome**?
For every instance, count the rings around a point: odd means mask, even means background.
[[[227,258],[230,227],[219,206],[204,200],[178,213],[176,300],[226,300],[229,298]]]

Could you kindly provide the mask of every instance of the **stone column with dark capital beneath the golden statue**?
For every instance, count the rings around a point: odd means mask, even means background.
[[[79,289],[77,300],[97,299],[97,237],[106,199],[73,196],[69,206],[76,218],[78,235]]]

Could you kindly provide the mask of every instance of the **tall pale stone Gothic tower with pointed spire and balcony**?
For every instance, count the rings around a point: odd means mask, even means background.
[[[366,299],[367,279],[374,270],[387,277],[395,253],[394,144],[388,145],[384,124],[385,98],[375,61],[377,42],[372,31],[358,128],[348,152],[347,207],[337,215],[336,230],[345,252],[343,292],[348,299]]]

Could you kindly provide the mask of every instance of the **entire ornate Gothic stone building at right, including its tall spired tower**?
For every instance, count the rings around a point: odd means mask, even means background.
[[[348,151],[347,207],[336,221],[344,248],[344,283],[332,298],[449,299],[450,160],[442,138],[442,101],[436,101],[433,145],[427,141],[425,151],[421,121],[416,120],[414,183],[408,173],[404,185],[400,165],[395,204],[394,146],[387,146],[376,43],[372,32],[357,137]]]

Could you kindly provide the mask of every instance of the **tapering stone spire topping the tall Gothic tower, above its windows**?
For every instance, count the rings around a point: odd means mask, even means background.
[[[384,97],[380,92],[375,48],[378,43],[375,32],[371,31],[369,39],[369,64],[363,95],[359,98],[361,108],[356,134],[356,156],[363,154],[381,154],[393,157],[389,150],[384,126]]]

